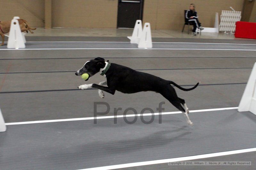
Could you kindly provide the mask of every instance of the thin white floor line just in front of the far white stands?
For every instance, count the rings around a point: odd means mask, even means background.
[[[195,49],[195,48],[35,48],[35,49],[0,49],[0,50],[235,50],[235,51],[256,51],[246,49]]]

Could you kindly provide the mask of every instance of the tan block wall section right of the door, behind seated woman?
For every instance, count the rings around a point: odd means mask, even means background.
[[[244,0],[145,0],[143,22],[150,22],[152,29],[180,30],[184,24],[184,10],[196,5],[199,21],[204,27],[213,27],[215,12],[242,11]]]

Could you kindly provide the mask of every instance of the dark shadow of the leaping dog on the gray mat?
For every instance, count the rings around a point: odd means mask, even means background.
[[[146,152],[147,150],[152,151],[152,148],[156,151],[157,148],[166,146],[172,142],[179,145],[179,141],[188,141],[189,138],[186,138],[186,136],[192,132],[189,131],[188,126],[182,126],[174,130],[157,131],[139,138],[134,137],[135,135],[132,135],[132,133],[133,132],[127,132],[120,137],[123,138],[126,136],[126,139],[120,140],[116,137],[112,138],[111,141],[104,141],[102,138],[102,141],[73,146],[69,148],[68,151],[63,148],[58,154],[49,155],[48,158],[62,155],[63,158],[70,160],[76,157],[84,161],[97,161],[99,158],[104,159],[108,156],[116,156],[121,153]]]

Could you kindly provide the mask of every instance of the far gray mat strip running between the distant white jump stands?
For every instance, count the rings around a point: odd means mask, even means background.
[[[30,40],[31,39],[31,40]],[[115,40],[119,40],[119,39],[124,39],[124,42],[127,43],[120,43],[120,42],[111,42],[113,41],[113,38],[108,38],[110,42],[74,42],[75,40],[72,40],[73,42],[50,42],[53,40],[53,38],[49,38],[50,40],[48,40],[49,42],[36,42],[33,41],[32,39],[35,39],[35,37],[33,38],[29,38],[27,39],[28,43],[26,43],[26,48],[25,49],[63,49],[63,48],[121,48],[121,49],[138,49],[138,45],[137,44],[131,44],[127,41],[127,39],[125,40],[124,38],[116,38]],[[45,38],[41,38],[41,39],[45,39]],[[63,37],[57,37],[54,39],[63,39]],[[70,38],[69,38],[70,39]],[[91,38],[91,39],[95,39],[95,38]],[[103,41],[108,41],[107,38],[105,38]],[[162,38],[163,39],[163,38]],[[173,38],[169,38],[169,39],[173,39]],[[81,40],[81,39],[80,39]],[[187,39],[184,39],[186,42]],[[38,40],[37,40],[38,41]],[[55,41],[60,41],[60,40],[55,40]],[[65,40],[68,41],[68,40]],[[79,40],[78,40],[79,41]],[[88,40],[87,40],[88,41]],[[94,40],[95,41],[95,40]],[[102,40],[101,40],[102,41]],[[189,41],[191,42],[191,39],[189,39]],[[211,41],[209,39],[204,39],[204,41],[201,42],[208,42]],[[216,41],[215,42],[220,42],[220,41]],[[238,42],[240,45],[236,45]],[[180,43],[161,43],[161,39],[160,38],[156,38],[153,39],[153,49],[243,49],[243,50],[256,50],[256,44],[255,41],[249,41],[246,42],[245,44],[247,45],[241,45],[242,42],[244,42],[244,40],[228,40],[225,41],[226,42],[236,42],[236,44],[225,44],[225,45],[221,45],[221,44],[200,44],[200,46],[198,46],[198,44],[180,44]],[[163,42],[166,42],[166,40],[164,40]],[[250,44],[250,45],[249,45]],[[253,44],[253,45],[252,45]],[[6,49],[6,46],[0,46],[0,49]]]

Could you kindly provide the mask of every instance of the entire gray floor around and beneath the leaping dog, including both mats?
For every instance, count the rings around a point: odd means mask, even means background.
[[[34,42],[127,42],[128,39],[124,37],[28,37],[27,41],[26,49],[88,48],[88,46],[137,48],[129,43]],[[193,91],[184,92],[177,89],[178,96],[186,100],[190,110],[238,106],[252,66],[256,62],[255,51],[242,50],[256,50],[256,46],[232,44],[256,44],[255,40],[153,38],[153,42],[231,43],[226,45],[153,43],[153,48],[241,50],[1,50],[6,49],[6,46],[0,46],[0,107],[6,123],[93,117],[93,102],[108,102],[110,111],[107,115],[113,115],[114,108],[118,107],[123,110],[133,107],[138,112],[149,107],[157,112],[156,108],[162,101],[165,102],[165,112],[177,111],[164,97],[153,92],[130,95],[117,92],[114,96],[105,93],[105,98],[101,99],[95,89],[78,90],[77,86],[81,84],[105,80],[104,77],[95,75],[90,81],[85,82],[75,75],[75,71],[81,68],[84,62],[99,56],[113,63],[172,80],[185,88],[201,81],[200,86]],[[99,106],[97,110],[105,111],[106,108]],[[97,125],[92,124],[91,121],[10,125],[7,127],[7,132],[0,134],[0,150],[3,151],[0,152],[2,153],[0,157],[3,158],[0,159],[0,164],[6,169],[61,169],[61,167],[79,169],[131,163],[136,157],[140,157],[140,161],[147,161],[155,160],[152,158],[156,155],[156,159],[167,159],[256,147],[255,116],[249,112],[237,113],[236,110],[230,110],[191,113],[190,118],[195,123],[194,127],[187,126],[185,118],[180,114],[165,117],[166,122],[163,121],[161,125],[145,125],[139,122],[128,125],[120,121],[117,126],[121,129],[107,120],[100,121]],[[130,137],[131,132],[127,130],[134,131],[138,138]],[[194,134],[198,138],[195,138]],[[201,137],[202,134],[205,136]],[[115,139],[110,138],[115,135]],[[204,140],[199,140],[199,137]],[[146,143],[149,142],[150,147],[142,144],[144,139]],[[16,143],[16,141],[23,142]],[[139,146],[135,145],[137,141],[140,142]],[[153,145],[155,141],[156,144]],[[178,145],[180,142],[187,142],[189,145],[183,148],[182,145]],[[106,147],[109,143],[111,150]],[[98,146],[97,152],[90,153],[91,157],[88,158],[89,152],[94,148],[93,144]],[[125,145],[127,147],[124,147]],[[175,146],[176,149],[182,149],[184,152],[175,150],[170,155],[167,153],[170,150],[166,150],[166,145],[171,149]],[[209,146],[209,148],[202,150],[198,149],[199,146]],[[100,153],[102,151],[100,148],[103,148],[103,154]],[[162,149],[161,152],[158,149]],[[191,151],[186,153],[188,149]],[[16,157],[19,154],[27,156],[20,159]],[[256,159],[255,154],[244,153],[244,155]],[[109,161],[106,157],[112,159]],[[20,164],[22,160],[24,162]],[[155,167],[164,169],[166,168],[164,166],[146,166],[145,169],[155,169]],[[138,167],[140,168],[144,167]],[[230,167],[233,168],[236,167]]]

